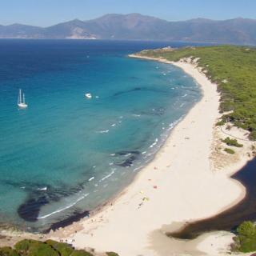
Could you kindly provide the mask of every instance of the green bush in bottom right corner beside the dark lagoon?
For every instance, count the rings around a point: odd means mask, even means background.
[[[234,238],[234,250],[243,253],[256,251],[256,225],[254,222],[242,222]]]

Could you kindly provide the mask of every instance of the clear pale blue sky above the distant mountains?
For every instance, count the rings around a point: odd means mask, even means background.
[[[256,0],[0,0],[0,24],[51,26],[74,18],[140,13],[168,21],[255,18]]]

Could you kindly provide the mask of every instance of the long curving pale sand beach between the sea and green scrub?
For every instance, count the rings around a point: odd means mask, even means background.
[[[203,234],[190,242],[168,238],[165,233],[218,214],[245,197],[245,188],[230,175],[250,159],[246,155],[250,142],[239,157],[218,150],[222,131],[215,126],[220,116],[217,86],[194,64],[157,60],[190,74],[202,88],[201,101],[113,203],[91,218],[51,233],[50,238],[120,256],[226,254],[232,242],[228,232]],[[239,130],[234,132],[242,136]]]

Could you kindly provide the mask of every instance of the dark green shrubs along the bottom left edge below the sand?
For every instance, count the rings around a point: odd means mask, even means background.
[[[108,256],[118,256],[114,252],[106,253]],[[17,242],[14,248],[0,248],[0,256],[94,256],[86,250],[75,250],[65,242],[47,240],[46,242],[24,239]]]

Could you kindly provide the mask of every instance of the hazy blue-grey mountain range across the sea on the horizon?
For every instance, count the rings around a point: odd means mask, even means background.
[[[142,14],[106,14],[89,21],[75,19],[46,28],[13,24],[0,26],[0,38],[127,39],[256,44],[256,20],[204,18],[184,22]]]

